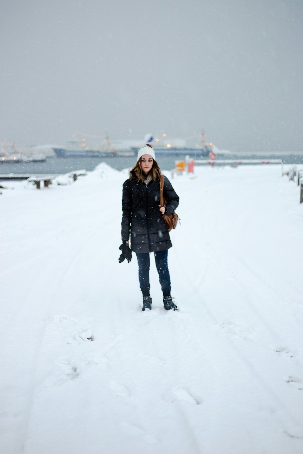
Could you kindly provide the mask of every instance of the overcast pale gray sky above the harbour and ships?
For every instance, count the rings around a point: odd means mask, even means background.
[[[2,0],[0,141],[303,150],[302,0]]]

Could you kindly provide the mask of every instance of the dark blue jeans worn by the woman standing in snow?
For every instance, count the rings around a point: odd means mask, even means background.
[[[159,274],[159,281],[161,285],[161,289],[163,291],[164,296],[170,295],[170,276],[169,276],[169,268],[167,265],[167,253],[168,251],[158,251],[154,252],[154,259],[156,262],[157,271]],[[139,283],[140,289],[142,291],[143,296],[149,296],[149,253],[144,254],[136,254],[138,265],[139,265]]]

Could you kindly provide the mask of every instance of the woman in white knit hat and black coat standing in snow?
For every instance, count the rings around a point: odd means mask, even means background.
[[[164,178],[164,198],[167,204],[161,207],[160,178]],[[170,277],[167,265],[168,249],[172,247],[169,232],[162,214],[173,213],[179,205],[179,197],[169,180],[162,176],[150,144],[139,149],[137,163],[123,184],[122,196],[122,254],[119,262],[131,260],[131,252],[137,255],[139,284],[143,295],[143,308],[151,310],[149,294],[149,253],[154,252],[159,281],[163,291],[164,308],[178,308],[170,295]],[[129,248],[129,232],[130,244]]]

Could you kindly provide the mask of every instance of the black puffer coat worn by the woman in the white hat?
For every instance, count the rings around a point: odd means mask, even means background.
[[[164,198],[167,200],[165,213],[171,214],[179,205],[179,197],[168,178],[164,177]],[[132,179],[123,184],[122,196],[122,242],[129,240],[133,252],[165,251],[172,247],[169,232],[159,211],[160,180],[157,178],[146,186]]]

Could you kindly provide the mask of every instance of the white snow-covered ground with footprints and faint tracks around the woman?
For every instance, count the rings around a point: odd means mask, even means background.
[[[1,453],[302,454],[303,204],[280,170],[171,180],[178,312],[154,259],[150,312],[118,262],[127,171],[2,190]]]

